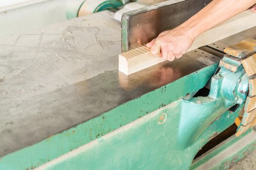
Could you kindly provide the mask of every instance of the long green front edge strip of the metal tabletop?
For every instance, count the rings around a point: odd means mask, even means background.
[[[197,92],[208,82],[216,69],[217,64],[200,69],[76,127],[5,155],[0,158],[0,170],[31,170],[39,167],[164,105]],[[117,149],[114,147],[113,150]]]

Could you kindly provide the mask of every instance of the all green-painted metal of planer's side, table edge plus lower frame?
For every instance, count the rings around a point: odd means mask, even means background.
[[[0,170],[30,170],[47,162],[43,169],[189,169],[200,148],[234,123],[246,100],[244,70],[225,68],[212,77],[209,96],[183,99],[206,85],[216,69],[217,64],[198,70],[6,155]],[[233,113],[228,109],[235,104],[240,105]]]

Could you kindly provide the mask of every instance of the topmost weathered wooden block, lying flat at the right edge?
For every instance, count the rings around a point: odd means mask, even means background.
[[[224,52],[238,58],[246,57],[256,52],[256,40],[250,38],[245,39],[236,45],[225,48]]]

